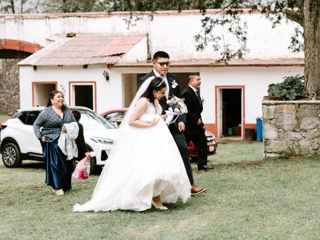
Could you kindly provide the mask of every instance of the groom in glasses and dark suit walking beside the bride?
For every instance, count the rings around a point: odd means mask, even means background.
[[[162,107],[162,114],[165,114],[165,110],[168,109],[166,100],[169,98],[169,96],[175,95],[177,97],[182,97],[182,93],[179,85],[179,79],[177,75],[168,72],[170,62],[169,62],[169,55],[166,52],[164,51],[155,52],[153,55],[152,64],[153,64],[152,71],[139,78],[138,88],[143,83],[143,81],[145,81],[150,76],[159,76],[162,79],[164,79],[167,86],[167,90],[165,92],[165,97],[162,97],[159,100],[159,104]],[[181,154],[184,167],[186,170],[186,174],[188,175],[188,178],[191,184],[191,195],[195,195],[205,191],[206,189],[202,187],[198,187],[193,183],[192,168],[191,168],[189,153],[188,153],[187,145],[186,145],[184,134],[183,134],[184,124],[185,124],[185,115],[179,115],[174,123],[169,124],[169,130]]]

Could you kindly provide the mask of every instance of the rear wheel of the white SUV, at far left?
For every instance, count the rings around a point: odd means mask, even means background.
[[[6,167],[18,167],[22,163],[20,150],[14,143],[5,144],[1,154]]]

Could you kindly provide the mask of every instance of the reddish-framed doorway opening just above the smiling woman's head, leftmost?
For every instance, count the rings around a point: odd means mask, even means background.
[[[57,82],[32,82],[32,105],[46,106],[50,91],[57,89]]]

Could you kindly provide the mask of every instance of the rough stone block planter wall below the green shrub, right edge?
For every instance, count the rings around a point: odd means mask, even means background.
[[[263,157],[320,154],[320,101],[262,101]]]

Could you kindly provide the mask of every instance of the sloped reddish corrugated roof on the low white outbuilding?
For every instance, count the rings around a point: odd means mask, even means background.
[[[41,49],[18,65],[114,64],[145,35],[75,36]]]

